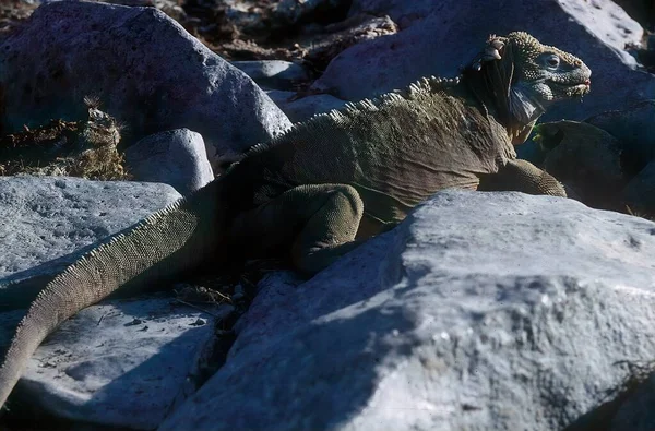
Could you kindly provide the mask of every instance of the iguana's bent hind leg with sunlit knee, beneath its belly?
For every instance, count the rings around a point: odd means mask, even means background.
[[[355,235],[362,214],[364,203],[350,185],[299,185],[237,215],[230,242],[261,255],[290,248],[294,265],[314,274],[359,244]]]

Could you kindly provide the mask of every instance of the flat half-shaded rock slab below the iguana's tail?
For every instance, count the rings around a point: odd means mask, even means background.
[[[9,344],[20,316],[0,314],[0,345]],[[90,307],[39,346],[12,398],[60,418],[152,430],[196,390],[215,321],[172,298]]]

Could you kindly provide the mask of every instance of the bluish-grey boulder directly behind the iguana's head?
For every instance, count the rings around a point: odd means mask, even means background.
[[[313,88],[358,100],[404,87],[424,75],[454,76],[460,65],[479,52],[489,34],[521,29],[577,55],[593,71],[592,93],[584,103],[560,104],[545,116],[545,121],[582,120],[617,105],[655,97],[655,76],[633,70],[634,59],[621,50],[626,41],[639,41],[643,32],[609,0],[509,0],[502,7],[484,8],[473,0],[434,4],[439,9],[432,14],[397,35],[342,52]],[[552,23],[558,23],[557,32]]]

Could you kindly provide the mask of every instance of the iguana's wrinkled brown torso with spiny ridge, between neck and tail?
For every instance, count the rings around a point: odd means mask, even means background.
[[[301,184],[348,184],[367,223],[397,223],[446,188],[516,157],[500,124],[458,80],[425,79],[406,92],[348,105],[294,127],[228,173],[229,206],[257,207]]]

